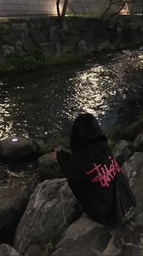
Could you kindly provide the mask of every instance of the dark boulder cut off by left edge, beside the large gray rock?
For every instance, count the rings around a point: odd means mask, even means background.
[[[19,189],[0,189],[0,243],[12,241],[13,234],[27,205]]]

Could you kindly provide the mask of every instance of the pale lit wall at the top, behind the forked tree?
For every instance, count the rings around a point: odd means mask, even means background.
[[[62,6],[62,0],[60,2]],[[76,13],[100,13],[107,4],[108,0],[69,0],[69,6]],[[56,0],[0,0],[0,17],[43,14],[57,15]]]

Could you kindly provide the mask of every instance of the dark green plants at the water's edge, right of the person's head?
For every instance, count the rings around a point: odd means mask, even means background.
[[[133,141],[136,136],[143,131],[143,113],[139,113],[137,118],[138,120],[128,127],[124,127],[121,124],[111,127],[110,132],[108,133],[111,147],[113,147],[118,140]]]

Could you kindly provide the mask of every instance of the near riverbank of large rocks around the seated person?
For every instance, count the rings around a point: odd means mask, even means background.
[[[40,183],[38,168],[50,166],[41,144],[7,138],[0,149],[0,255],[141,255],[143,134],[113,149],[138,204],[136,216],[113,229],[83,213],[64,177]]]

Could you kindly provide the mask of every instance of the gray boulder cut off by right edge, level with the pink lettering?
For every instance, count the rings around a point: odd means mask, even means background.
[[[142,161],[142,152],[135,152],[121,167],[136,198],[137,213],[142,212]]]

